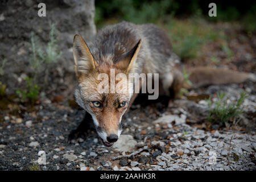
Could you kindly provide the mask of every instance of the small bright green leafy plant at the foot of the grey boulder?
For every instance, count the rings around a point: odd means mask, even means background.
[[[35,102],[38,100],[39,93],[40,93],[40,87],[33,83],[33,79],[30,77],[26,78],[26,89],[18,89],[16,91],[16,94],[21,98],[21,100],[24,102],[25,100],[29,100],[31,102]]]

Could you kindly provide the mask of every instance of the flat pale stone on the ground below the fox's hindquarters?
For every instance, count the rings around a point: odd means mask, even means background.
[[[175,121],[175,125],[180,125],[181,123],[185,123],[187,116],[185,114],[179,115],[163,115],[162,117],[153,121],[154,124],[160,123],[161,125],[168,125],[168,123],[172,123]]]

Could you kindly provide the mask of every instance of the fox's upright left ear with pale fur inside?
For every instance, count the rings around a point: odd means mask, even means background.
[[[79,77],[81,73],[86,74],[98,66],[89,47],[80,35],[75,35],[73,40],[73,57],[75,60],[75,72],[77,77]]]

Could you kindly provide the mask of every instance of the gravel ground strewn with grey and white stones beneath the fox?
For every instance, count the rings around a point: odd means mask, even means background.
[[[230,98],[239,92],[237,85],[229,85],[210,86],[204,93],[214,89],[229,90]],[[247,112],[255,113],[255,98],[251,92],[246,99]],[[68,142],[84,111],[46,102],[37,106],[38,113],[26,113],[23,119],[6,115],[0,123],[1,170],[256,169],[255,125],[250,132],[221,125],[208,130],[198,122],[205,115],[204,100],[176,100],[168,107],[163,101],[144,105],[137,100],[112,148],[104,147],[93,130]],[[250,122],[255,124],[255,117]]]

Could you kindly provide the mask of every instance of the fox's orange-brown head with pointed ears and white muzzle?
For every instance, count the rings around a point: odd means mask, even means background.
[[[96,60],[92,55],[89,47],[84,39],[79,35],[75,35],[73,41],[73,57],[75,60],[75,73],[78,80],[78,88],[75,91],[76,102],[89,114],[92,115],[93,123],[97,134],[100,136],[103,144],[106,147],[111,147],[121,135],[122,115],[127,110],[129,101],[133,92],[129,92],[130,88],[123,86],[123,92],[100,92],[99,85],[102,80],[99,79],[102,73],[108,76],[108,84],[113,81],[112,71],[114,76],[118,73],[128,75],[135,68],[135,60],[141,46],[141,40],[135,46],[125,53],[118,61]],[[125,78],[125,79],[123,79]],[[115,79],[114,84],[120,82],[131,82],[123,77]],[[128,85],[128,84],[122,84]],[[132,84],[131,84],[132,85]],[[110,86],[111,87],[111,86]]]

